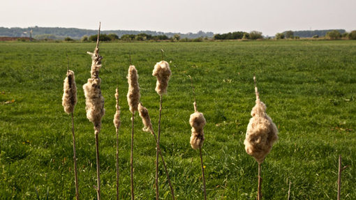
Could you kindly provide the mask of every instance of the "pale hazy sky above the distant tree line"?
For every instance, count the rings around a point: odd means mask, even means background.
[[[356,0],[1,0],[0,26],[164,32],[356,29]]]

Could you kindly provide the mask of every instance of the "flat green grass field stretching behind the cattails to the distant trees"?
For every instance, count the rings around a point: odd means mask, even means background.
[[[93,125],[82,85],[90,77],[95,43],[0,43],[0,199],[75,199],[71,117],[61,105],[67,60],[75,71],[77,164],[81,199],[96,199]],[[356,199],[356,41],[102,43],[106,114],[99,135],[102,199],[115,198],[114,92],[119,86],[120,197],[130,199],[131,113],[126,100],[128,55],[138,69],[141,102],[157,130],[159,96],[151,75],[161,61],[172,77],[163,96],[161,148],[177,199],[202,199],[198,151],[189,144],[193,77],[205,114],[203,157],[208,199],[255,199],[258,164],[244,151],[255,104],[253,75],[279,141],[262,164],[263,199]],[[154,138],[135,120],[135,196],[154,199]],[[161,199],[171,199],[163,167]],[[35,190],[36,187],[36,190]],[[223,197],[222,197],[223,196]]]

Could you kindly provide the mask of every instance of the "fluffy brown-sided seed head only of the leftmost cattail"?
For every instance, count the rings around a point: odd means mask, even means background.
[[[77,104],[77,86],[75,84],[74,72],[68,70],[67,77],[64,79],[63,84],[63,98],[62,105],[64,111],[67,114],[71,114],[74,111],[74,107]]]

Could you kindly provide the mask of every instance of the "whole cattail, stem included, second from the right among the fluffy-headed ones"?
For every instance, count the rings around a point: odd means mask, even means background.
[[[191,76],[189,76],[191,78]],[[204,190],[204,199],[207,199],[207,190],[205,188],[205,175],[204,175],[204,164],[202,162],[202,144],[205,140],[204,137],[204,126],[207,123],[205,120],[204,115],[198,111],[197,109],[197,103],[195,101],[195,92],[194,92],[194,87],[193,87],[193,80],[191,79],[191,87],[193,90],[193,95],[194,95],[194,113],[191,114],[191,117],[189,118],[189,123],[191,124],[191,148],[194,150],[197,150],[199,148],[200,152],[200,164],[202,167],[202,184],[203,184],[203,190]]]

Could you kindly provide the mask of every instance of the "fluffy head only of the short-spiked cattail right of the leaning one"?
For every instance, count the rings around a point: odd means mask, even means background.
[[[152,75],[157,78],[155,90],[158,95],[167,93],[168,81],[170,80],[171,74],[172,72],[170,70],[170,64],[168,64],[166,61],[158,62],[154,66]]]

